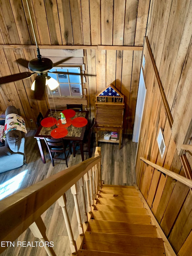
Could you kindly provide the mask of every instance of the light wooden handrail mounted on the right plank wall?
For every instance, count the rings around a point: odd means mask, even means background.
[[[167,170],[167,169],[165,169],[164,167],[159,166],[158,164],[154,164],[153,162],[147,160],[146,158],[140,157],[140,159],[141,159],[142,161],[144,161],[146,164],[149,164],[149,165],[151,165],[152,167],[154,167],[155,169],[161,171],[162,173],[165,173],[165,174],[167,174],[168,176],[172,177],[173,179],[176,179],[176,180],[178,180],[179,182],[181,182],[181,183],[183,183],[183,184],[189,186],[190,188],[192,188],[192,180],[187,179],[187,178],[185,178],[185,177],[183,177],[183,176],[181,176],[181,175],[179,175],[179,174],[177,174],[177,173],[174,173],[174,172],[172,172],[172,171],[170,171],[170,170]]]

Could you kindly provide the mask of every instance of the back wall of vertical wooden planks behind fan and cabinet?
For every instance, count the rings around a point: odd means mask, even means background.
[[[133,132],[142,51],[118,49],[118,46],[143,46],[149,3],[150,0],[29,1],[40,46],[71,45],[77,46],[76,49],[84,46],[85,73],[96,74],[87,77],[83,85],[91,116],[95,115],[95,95],[110,83],[125,95],[124,133]],[[11,47],[13,44],[17,47]],[[0,1],[0,45],[1,76],[27,70],[17,65],[16,59],[36,58],[36,49],[18,48],[35,45],[26,0]],[[46,95],[41,101],[34,99],[30,90],[32,80],[34,76],[2,85],[0,109],[5,110],[10,104],[19,107],[28,128],[34,129],[35,122],[29,119],[36,120],[39,111],[44,115],[49,101]],[[61,100],[56,103],[62,105]]]

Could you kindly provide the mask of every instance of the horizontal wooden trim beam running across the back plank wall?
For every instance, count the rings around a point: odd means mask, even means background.
[[[36,49],[36,45],[0,44],[0,48]],[[128,50],[143,51],[143,46],[107,46],[107,45],[39,45],[39,49],[91,49],[91,50]]]

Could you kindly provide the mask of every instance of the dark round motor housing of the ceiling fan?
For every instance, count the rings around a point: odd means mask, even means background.
[[[32,59],[28,64],[28,68],[36,73],[44,73],[53,68],[53,62],[48,58]]]

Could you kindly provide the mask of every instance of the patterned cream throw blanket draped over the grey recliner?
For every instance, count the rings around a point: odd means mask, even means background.
[[[19,130],[27,133],[25,121],[22,116],[16,114],[8,114],[5,118],[5,134],[8,131]]]

